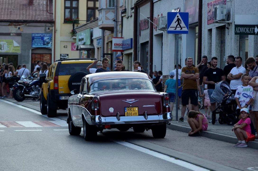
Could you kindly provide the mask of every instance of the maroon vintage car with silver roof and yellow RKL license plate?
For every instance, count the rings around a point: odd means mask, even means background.
[[[117,128],[137,133],[152,130],[155,138],[164,138],[170,124],[170,98],[157,92],[148,75],[141,72],[102,72],[82,78],[80,90],[71,91],[68,99],[69,133],[85,140],[98,131]]]

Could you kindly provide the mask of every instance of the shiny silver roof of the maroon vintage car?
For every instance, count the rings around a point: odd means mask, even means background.
[[[138,78],[138,79],[148,79],[149,77],[146,73],[135,72],[135,71],[114,71],[114,72],[100,72],[94,74],[88,74],[85,78],[89,82],[94,82],[97,80],[110,80],[110,79],[123,79],[123,78]]]

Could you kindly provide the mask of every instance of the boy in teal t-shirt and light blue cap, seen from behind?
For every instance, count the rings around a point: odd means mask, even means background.
[[[176,99],[176,80],[174,80],[175,73],[170,71],[169,79],[166,80],[164,92],[166,92],[170,97],[170,111],[172,112],[175,99]]]

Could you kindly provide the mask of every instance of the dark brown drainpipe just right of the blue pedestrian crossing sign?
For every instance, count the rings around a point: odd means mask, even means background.
[[[203,11],[203,0],[199,0],[197,64],[199,64],[201,62],[202,11]]]

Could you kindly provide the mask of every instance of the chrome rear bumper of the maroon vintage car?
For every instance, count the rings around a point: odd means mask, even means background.
[[[125,123],[158,123],[158,122],[170,122],[173,119],[171,112],[166,112],[160,115],[148,115],[148,116],[110,116],[102,117],[86,116],[85,118],[89,125],[111,125],[111,124],[125,124]]]

